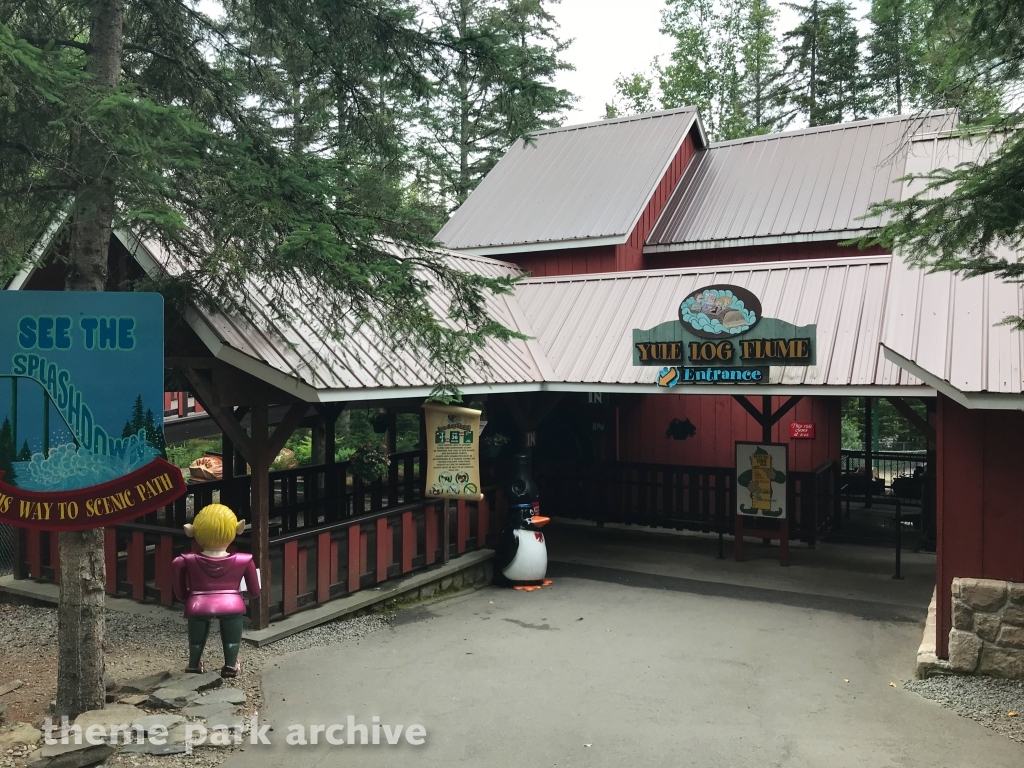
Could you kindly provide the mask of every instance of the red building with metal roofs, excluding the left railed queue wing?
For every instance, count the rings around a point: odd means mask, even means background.
[[[771,437],[790,442],[791,468],[813,472],[839,458],[839,396],[925,398],[939,655],[954,577],[1024,581],[1024,352],[1020,334],[994,327],[1024,313],[1024,298],[842,244],[879,225],[872,203],[913,190],[906,174],[977,156],[954,126],[954,114],[932,113],[709,143],[699,116],[678,110],[555,129],[509,150],[438,233],[534,275],[517,300],[553,368],[547,389],[617,395],[613,438],[602,430],[616,460],[729,467],[734,441],[767,434],[734,395],[763,395],[772,412],[803,395]],[[766,313],[816,322],[817,365],[773,368],[756,391],[656,391],[652,372],[630,367],[629,330],[713,283],[756,288]],[[666,439],[673,418],[693,437]],[[791,439],[793,421],[813,423],[814,437]]]

